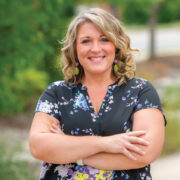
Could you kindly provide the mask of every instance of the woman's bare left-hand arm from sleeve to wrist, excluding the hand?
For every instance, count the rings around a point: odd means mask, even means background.
[[[65,135],[57,119],[37,112],[30,130],[29,146],[32,155],[37,159],[49,163],[66,164],[103,151],[100,138]]]

